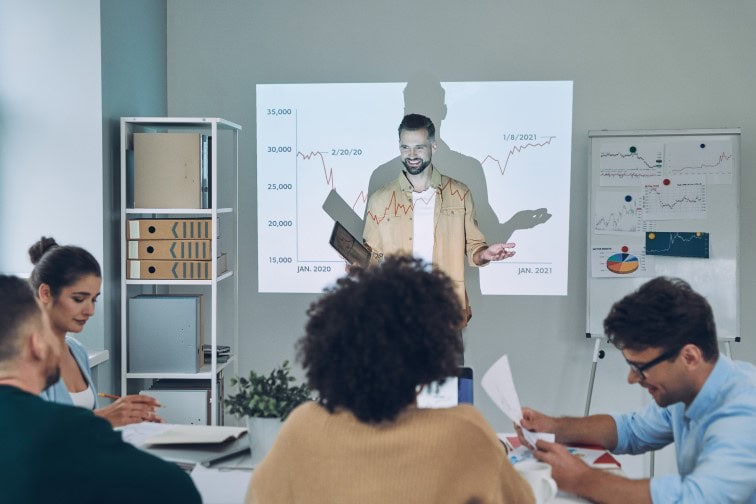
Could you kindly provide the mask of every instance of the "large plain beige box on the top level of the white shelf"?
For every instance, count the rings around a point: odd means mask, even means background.
[[[208,208],[207,135],[134,133],[134,207]]]

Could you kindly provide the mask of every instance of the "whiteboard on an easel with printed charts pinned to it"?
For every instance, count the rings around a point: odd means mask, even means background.
[[[720,339],[739,340],[740,129],[589,138],[586,336],[603,336],[612,304],[664,275],[706,297]]]

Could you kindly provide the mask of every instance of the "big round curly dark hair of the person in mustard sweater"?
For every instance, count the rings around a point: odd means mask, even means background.
[[[393,420],[415,401],[417,385],[457,373],[462,307],[451,280],[419,259],[353,268],[307,315],[297,358],[331,412]]]

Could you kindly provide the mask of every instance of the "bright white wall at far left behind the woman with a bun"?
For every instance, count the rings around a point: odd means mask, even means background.
[[[0,0],[0,271],[40,236],[103,261],[99,0]],[[81,335],[103,348],[99,309]]]

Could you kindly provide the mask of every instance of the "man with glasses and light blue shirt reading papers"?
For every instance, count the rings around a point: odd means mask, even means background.
[[[535,456],[551,464],[559,488],[610,503],[756,503],[756,368],[719,354],[706,299],[683,280],[655,278],[614,304],[604,332],[630,366],[628,382],[654,402],[583,418],[523,408],[523,427],[556,434],[557,443],[538,441]],[[674,443],[679,474],[622,478],[589,468],[559,443],[617,454]]]

